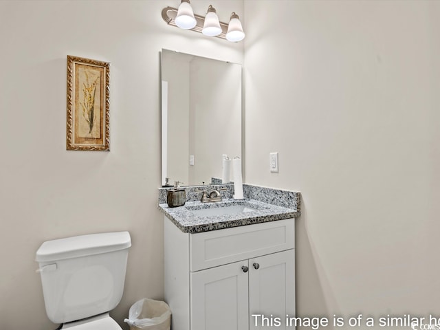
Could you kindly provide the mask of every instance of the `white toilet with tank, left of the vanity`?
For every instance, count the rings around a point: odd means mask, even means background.
[[[121,330],[109,316],[124,291],[129,232],[44,242],[36,252],[47,317],[58,329]]]

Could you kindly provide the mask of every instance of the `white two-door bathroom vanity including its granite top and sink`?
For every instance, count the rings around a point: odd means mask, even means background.
[[[286,329],[286,314],[295,316],[299,193],[289,192],[297,194],[297,204],[287,208],[253,199],[251,188],[245,188],[244,201],[159,204],[165,214],[164,284],[172,329],[261,329],[262,320],[265,329],[271,324]],[[274,324],[276,317],[280,325]]]

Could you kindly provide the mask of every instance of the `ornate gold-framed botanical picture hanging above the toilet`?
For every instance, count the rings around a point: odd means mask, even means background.
[[[67,55],[67,150],[110,151],[110,63]]]

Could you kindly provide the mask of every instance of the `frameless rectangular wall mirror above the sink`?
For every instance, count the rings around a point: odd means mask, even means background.
[[[241,65],[162,50],[162,185],[221,179],[241,137]]]

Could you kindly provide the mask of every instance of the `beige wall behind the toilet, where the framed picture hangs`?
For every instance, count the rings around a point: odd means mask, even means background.
[[[221,21],[243,1],[212,3]],[[242,63],[243,44],[170,27],[179,1],[0,1],[0,329],[54,329],[34,256],[45,240],[129,230],[122,324],[163,297],[160,180],[162,48]],[[111,151],[65,150],[67,54],[111,62]],[[124,329],[128,329],[124,325]]]

